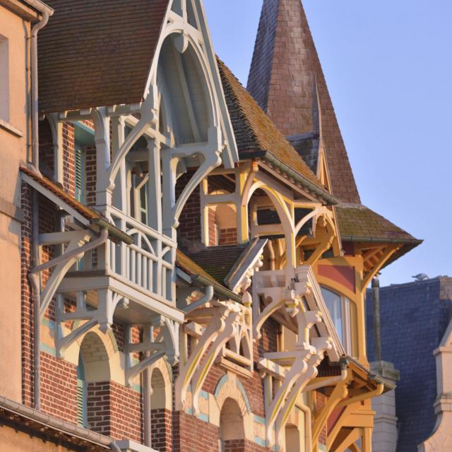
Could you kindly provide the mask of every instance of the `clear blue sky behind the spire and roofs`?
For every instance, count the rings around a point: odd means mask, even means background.
[[[424,244],[381,283],[452,276],[452,1],[304,0],[362,203]],[[204,0],[246,85],[261,0]]]

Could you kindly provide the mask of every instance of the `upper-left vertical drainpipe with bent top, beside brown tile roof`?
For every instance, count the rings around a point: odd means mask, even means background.
[[[53,15],[54,10],[43,4],[39,0],[25,0],[32,8],[42,13],[41,20],[31,29],[31,114],[32,114],[32,166],[39,172],[40,151],[39,151],[39,109],[38,109],[38,90],[37,90],[37,33],[47,25],[49,17]]]

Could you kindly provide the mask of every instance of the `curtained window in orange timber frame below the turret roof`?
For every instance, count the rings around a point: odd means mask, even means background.
[[[357,311],[355,303],[345,295],[321,287],[323,299],[338,336],[348,355],[357,356]]]

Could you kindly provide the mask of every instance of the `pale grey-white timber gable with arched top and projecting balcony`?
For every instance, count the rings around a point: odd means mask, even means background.
[[[57,323],[83,322],[68,335],[64,335],[64,328],[58,328],[59,357],[97,323],[107,331],[113,316],[125,321],[127,328],[157,328],[157,338],[150,335],[140,344],[126,345],[128,384],[164,355],[171,364],[177,362],[179,323],[184,318],[175,307],[179,215],[207,174],[220,164],[232,167],[238,160],[201,1],[167,2],[149,67],[141,102],[91,105],[46,114],[54,140],[54,179],[59,184],[63,183],[64,159],[61,124],[92,127],[95,210],[105,231],[124,231],[126,239],[117,242],[102,232],[100,239],[88,244],[91,234],[77,230],[55,233],[67,236],[64,239],[43,237],[44,245],[64,246],[71,234],[75,242],[66,247],[71,260],[65,261],[61,271],[56,268],[51,284],[44,288],[42,311],[57,292]],[[177,196],[177,179],[187,168],[194,168],[194,174]],[[140,196],[146,198],[144,216]],[[70,225],[70,218],[64,219],[62,230]],[[91,249],[97,253],[96,267],[85,259],[83,271],[71,271],[65,278],[84,252]],[[49,268],[49,263],[44,266]],[[37,266],[32,274],[41,267]],[[64,297],[76,302],[75,312],[64,311]],[[96,307],[95,311],[90,306]],[[150,311],[146,314],[147,309]],[[137,352],[145,358],[133,365],[129,357]]]

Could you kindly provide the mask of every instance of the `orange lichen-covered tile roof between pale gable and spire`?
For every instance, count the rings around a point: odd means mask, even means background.
[[[311,184],[326,191],[309,166],[273,124],[273,121],[220,59],[218,59],[218,69],[220,69],[239,156],[246,159],[256,151],[270,153]]]

